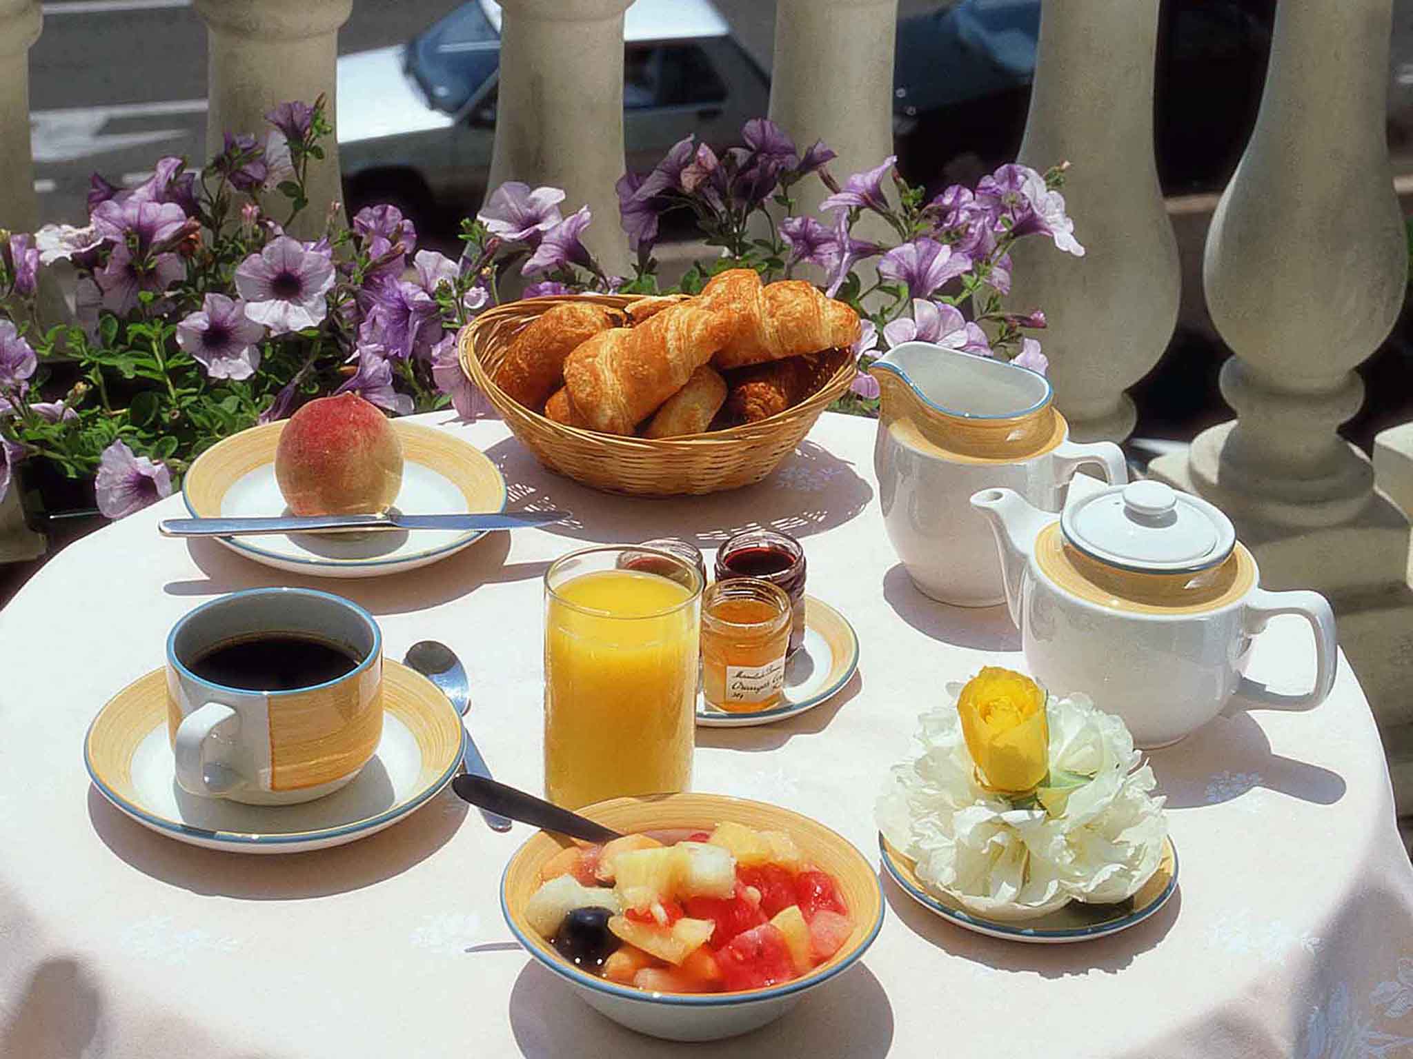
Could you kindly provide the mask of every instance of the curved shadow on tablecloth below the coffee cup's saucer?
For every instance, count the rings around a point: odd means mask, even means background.
[[[346,894],[400,875],[451,842],[468,809],[448,788],[407,819],[359,842],[308,853],[249,854],[157,834],[123,816],[93,786],[88,792],[97,837],[144,875],[194,894],[252,901]]]

